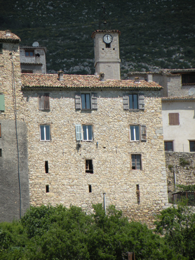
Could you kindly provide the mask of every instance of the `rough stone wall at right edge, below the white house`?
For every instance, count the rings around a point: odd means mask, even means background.
[[[174,174],[172,166],[175,166],[176,184],[190,185],[195,183],[195,153],[193,152],[165,152],[168,192],[174,192]],[[184,158],[189,165],[181,166],[180,158]]]

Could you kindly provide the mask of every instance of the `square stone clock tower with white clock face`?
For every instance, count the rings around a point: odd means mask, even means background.
[[[119,30],[95,30],[94,40],[95,73],[104,73],[104,79],[120,80]]]

